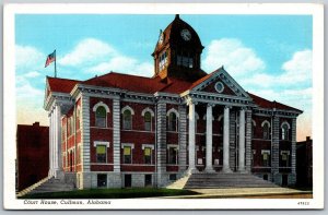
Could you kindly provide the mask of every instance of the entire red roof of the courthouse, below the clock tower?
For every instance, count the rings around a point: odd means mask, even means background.
[[[81,84],[94,85],[94,86],[121,88],[121,89],[145,93],[145,94],[154,94],[156,92],[180,94],[185,91],[194,88],[195,86],[210,79],[219,70],[215,70],[212,73],[197,80],[194,83],[174,79],[174,77],[168,77],[166,81],[162,81],[161,77],[159,76],[144,77],[144,76],[137,76],[131,74],[121,74],[116,72],[109,72],[102,76],[95,76],[93,79],[83,82],[77,80],[49,77],[49,76],[47,79],[50,86],[50,91],[60,92],[60,93],[70,93],[72,88],[75,86],[75,84],[81,83]],[[278,108],[278,109],[285,109],[285,110],[302,111],[296,108],[278,103],[276,100],[274,101],[267,100],[251,93],[248,93],[248,95],[253,98],[254,103],[261,108],[268,108],[268,109]]]

